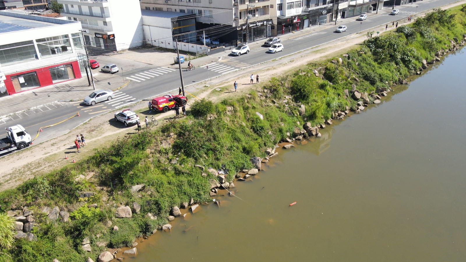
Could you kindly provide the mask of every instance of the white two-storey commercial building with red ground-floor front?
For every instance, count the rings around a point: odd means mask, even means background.
[[[81,78],[81,23],[0,11],[0,96]]]

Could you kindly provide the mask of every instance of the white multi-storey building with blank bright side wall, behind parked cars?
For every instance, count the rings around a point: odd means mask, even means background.
[[[80,21],[86,45],[120,51],[143,45],[138,0],[58,0],[62,16]]]

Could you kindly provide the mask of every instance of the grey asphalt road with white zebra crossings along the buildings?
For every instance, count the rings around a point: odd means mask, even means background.
[[[306,28],[304,31],[309,30],[308,34],[305,34],[302,31],[302,34],[295,37],[289,37],[287,40],[282,41],[285,49],[284,51],[276,54],[267,53],[268,47],[261,48],[260,45],[262,41],[251,43],[250,46],[252,51],[249,54],[241,56],[224,55],[218,62],[209,64],[208,69],[207,66],[198,66],[195,70],[186,71],[185,67],[187,64],[183,64],[184,82],[185,85],[189,85],[204,81],[209,77],[226,75],[238,69],[300,52],[370,28],[374,28],[374,31],[384,30],[385,24],[389,24],[389,26],[391,26],[392,21],[405,19],[410,15],[415,15],[416,13],[456,1],[457,0],[426,0],[412,5],[404,5],[402,7],[396,7],[396,9],[400,10],[399,14],[396,16],[390,15],[391,9],[379,10],[379,14],[369,14],[368,19],[362,23],[361,21],[356,21],[357,17],[355,17],[353,21],[345,23],[348,27],[348,31],[343,33],[335,32],[337,26],[322,26],[326,28],[319,30],[318,32],[312,32],[312,28]],[[128,106],[131,103],[147,99],[148,97],[153,97],[158,94],[163,94],[164,92],[178,89],[178,86],[180,86],[179,71],[176,68],[148,66],[124,72],[123,77],[130,79],[131,84],[120,90],[117,93],[117,97],[114,97],[112,101],[98,103],[94,106],[86,106],[80,102],[57,102],[7,117],[5,119],[0,119],[0,128],[3,130],[3,128],[14,124],[22,124],[31,133],[31,135],[35,137],[35,131],[38,130],[39,127],[56,124],[74,116],[76,112],[80,112],[80,117],[73,117],[61,124],[44,129],[44,131],[41,132],[39,137],[34,141],[35,144],[37,144],[69,132],[77,125],[89,120],[90,117],[94,117],[123,106]],[[109,123],[118,128],[123,128],[123,125],[118,125],[118,123],[115,123],[112,118],[109,119]],[[4,137],[5,135],[6,133],[1,134],[1,137]]]

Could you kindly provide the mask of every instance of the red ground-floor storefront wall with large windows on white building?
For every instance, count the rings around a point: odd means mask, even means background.
[[[4,84],[8,95],[13,95],[76,78],[81,78],[81,71],[74,61],[7,75]]]

